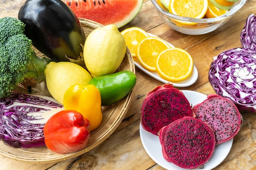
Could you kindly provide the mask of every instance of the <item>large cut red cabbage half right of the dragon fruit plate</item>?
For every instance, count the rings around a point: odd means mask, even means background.
[[[235,48],[211,63],[209,82],[216,94],[230,99],[240,111],[256,111],[256,51]]]

